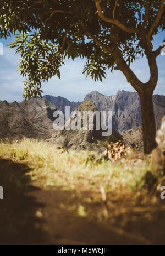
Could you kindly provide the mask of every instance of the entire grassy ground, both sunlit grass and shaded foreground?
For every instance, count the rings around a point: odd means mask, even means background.
[[[152,171],[149,156],[135,153],[112,163],[96,152],[66,150],[33,139],[2,142],[0,156],[0,185],[4,188],[0,241],[54,243],[55,239],[55,243],[64,243],[64,239],[78,239],[82,243],[100,243],[101,237],[94,239],[92,234],[87,240],[81,232],[77,237],[71,235],[72,228],[75,231],[83,218],[86,227],[91,221],[97,224],[96,233],[105,232],[104,225],[109,225],[108,232],[112,233],[113,225],[116,236],[121,230],[127,232],[123,233],[127,241],[131,233],[132,238],[137,236],[143,242],[164,242],[164,236],[163,240],[160,236],[165,228],[158,229],[160,216],[165,216],[164,205],[151,193],[163,174]],[[72,222],[70,233],[65,230],[67,218]],[[59,220],[64,223],[60,227]],[[84,222],[82,225],[85,228]],[[84,230],[91,233],[92,228]]]

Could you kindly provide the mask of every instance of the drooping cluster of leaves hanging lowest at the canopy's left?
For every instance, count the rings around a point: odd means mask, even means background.
[[[20,53],[19,72],[27,76],[24,81],[24,97],[41,97],[41,83],[48,81],[57,74],[60,78],[59,67],[62,66],[63,56],[58,53],[56,45],[40,39],[40,35],[19,33],[11,48],[17,48],[15,53]],[[27,74],[27,75],[26,75]]]

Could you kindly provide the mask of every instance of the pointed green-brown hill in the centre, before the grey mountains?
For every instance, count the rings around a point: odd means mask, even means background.
[[[102,145],[102,141],[106,140],[105,137],[102,137],[102,130],[96,130],[96,119],[94,117],[94,129],[90,129],[89,119],[85,123],[83,121],[83,111],[97,111],[97,107],[92,100],[86,100],[76,109],[81,113],[81,120],[76,121],[76,117],[71,117],[65,124],[62,130],[56,132],[55,142],[58,145],[62,145],[63,147],[73,147],[76,149],[89,149],[89,150],[97,150],[103,151],[105,147]],[[78,130],[66,130],[65,127],[68,127],[68,123],[76,122],[77,126],[80,125],[81,129]],[[86,125],[88,127],[87,130],[84,130]],[[100,126],[101,127],[101,126]],[[118,139],[122,139],[122,136],[117,132],[117,130],[113,130],[111,137],[109,140],[112,142],[116,142]]]

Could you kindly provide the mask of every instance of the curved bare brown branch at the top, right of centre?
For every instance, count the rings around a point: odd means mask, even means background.
[[[112,23],[112,24],[114,24],[114,25],[117,25],[119,28],[123,29],[125,32],[129,32],[129,33],[138,33],[138,32],[139,32],[139,29],[127,27],[127,26],[125,26],[124,24],[120,23],[119,20],[117,20],[117,19],[114,19],[114,18],[111,19],[111,18],[106,17],[106,16],[103,14],[103,12],[102,12],[100,3],[98,3],[98,2],[95,0],[95,4],[96,4],[97,11],[98,11],[98,16],[99,16],[102,20],[104,20],[105,22],[109,22],[109,23]]]

